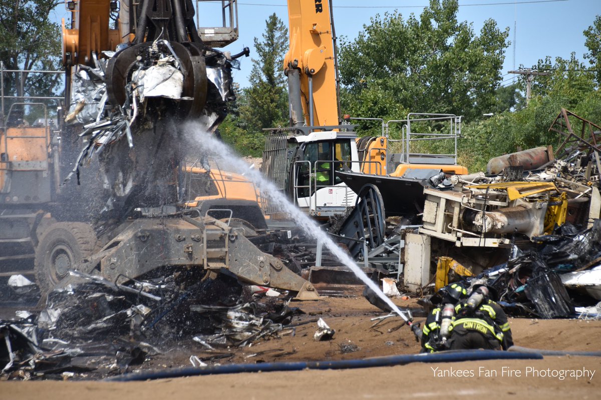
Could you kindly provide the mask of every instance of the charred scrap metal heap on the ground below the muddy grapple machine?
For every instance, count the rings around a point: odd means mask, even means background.
[[[39,314],[0,321],[0,378],[106,377],[192,340],[209,353],[192,354],[195,365],[222,356],[219,349],[293,335],[287,325],[302,314],[283,295],[262,298],[254,293],[263,288],[223,276],[201,280],[188,272],[115,285],[73,274],[79,283],[51,292]]]

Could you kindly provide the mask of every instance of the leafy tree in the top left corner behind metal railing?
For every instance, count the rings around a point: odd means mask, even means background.
[[[0,0],[0,61],[7,70],[56,70],[61,28],[50,21],[60,0]],[[51,95],[58,74],[4,73],[4,95]],[[22,84],[21,84],[22,82]]]

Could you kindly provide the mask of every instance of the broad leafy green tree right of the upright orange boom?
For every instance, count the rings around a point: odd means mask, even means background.
[[[343,111],[399,118],[399,111],[479,118],[496,103],[508,28],[484,22],[480,35],[457,21],[457,0],[430,0],[419,19],[386,13],[340,47]]]

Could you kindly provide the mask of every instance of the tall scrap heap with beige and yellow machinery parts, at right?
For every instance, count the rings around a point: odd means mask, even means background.
[[[368,247],[341,241],[380,273],[401,277],[407,291],[439,289],[457,279],[486,282],[514,315],[596,318],[601,127],[562,109],[551,130],[563,135],[555,153],[549,146],[495,157],[486,174],[444,181],[436,179],[440,171],[422,170],[419,214],[388,217],[386,225],[386,197],[375,184],[365,185],[367,195],[358,195],[368,212],[349,218],[344,224],[350,231],[343,225],[340,232],[364,238]]]

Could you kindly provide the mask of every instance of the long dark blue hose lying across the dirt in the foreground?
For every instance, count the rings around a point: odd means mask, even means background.
[[[237,374],[239,372],[301,371],[302,369],[351,369],[379,366],[405,365],[409,363],[439,363],[477,360],[542,360],[542,354],[519,353],[516,351],[460,350],[441,353],[401,354],[398,356],[374,357],[362,360],[277,362],[259,364],[229,364],[144,371],[106,378],[105,381],[127,382],[149,379],[192,377],[198,375]]]

